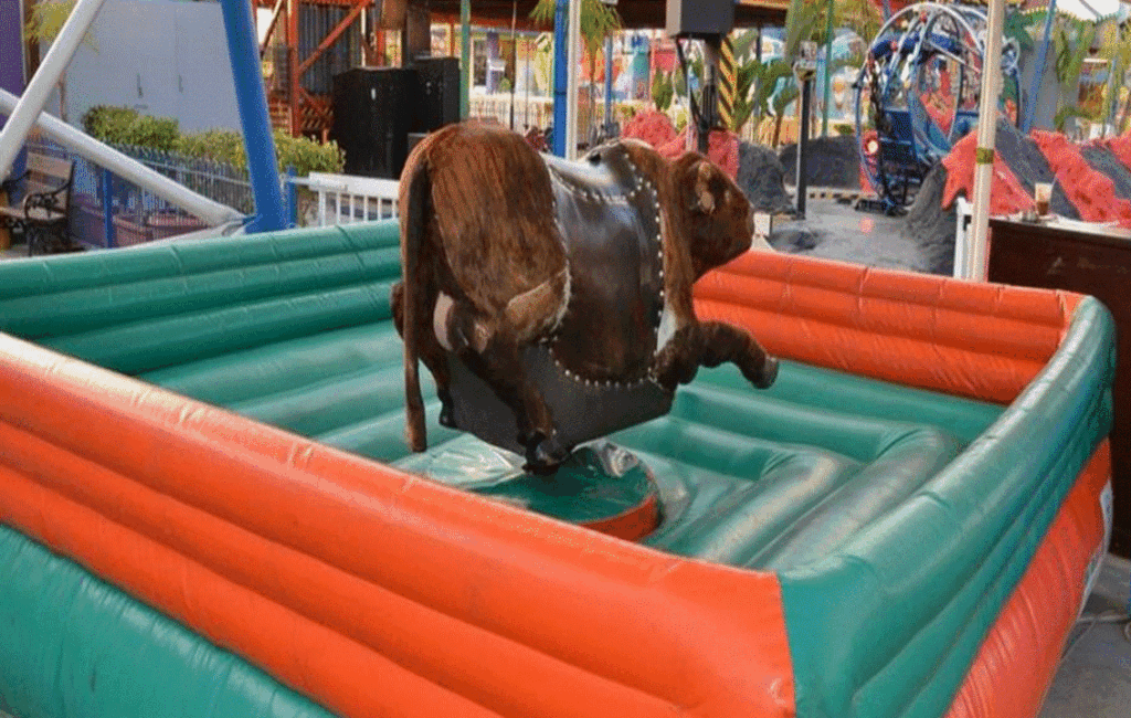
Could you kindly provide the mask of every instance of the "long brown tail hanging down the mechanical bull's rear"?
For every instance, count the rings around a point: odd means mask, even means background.
[[[405,438],[413,451],[428,449],[424,400],[421,397],[420,346],[422,321],[428,319],[426,267],[421,261],[431,182],[428,159],[414,153],[400,181],[400,267],[403,287],[403,338],[405,341]],[[431,327],[431,321],[426,322]]]

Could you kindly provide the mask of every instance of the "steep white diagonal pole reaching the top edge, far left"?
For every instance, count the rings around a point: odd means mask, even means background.
[[[0,130],[0,179],[11,172],[11,165],[24,146],[27,133],[35,124],[35,119],[43,112],[51,89],[67,71],[67,66],[70,64],[78,44],[83,42],[83,35],[94,23],[102,2],[103,0],[78,0],[75,3],[70,17],[59,31],[55,41],[51,43],[51,49],[40,63],[40,69],[35,71],[35,77],[27,84],[23,97]]]

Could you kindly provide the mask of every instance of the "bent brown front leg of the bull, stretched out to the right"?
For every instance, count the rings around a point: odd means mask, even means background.
[[[700,366],[715,367],[733,362],[742,375],[759,389],[777,379],[778,362],[758,340],[737,327],[718,321],[692,322],[682,327],[655,361],[656,381],[667,391],[691,383]]]

